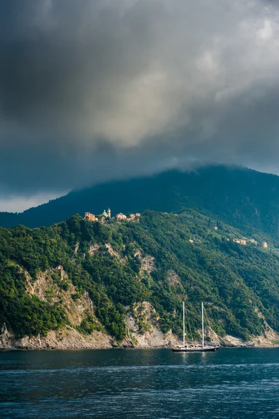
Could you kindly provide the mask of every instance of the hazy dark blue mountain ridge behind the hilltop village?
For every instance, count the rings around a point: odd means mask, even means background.
[[[190,208],[241,228],[245,234],[272,235],[279,244],[279,177],[225,166],[99,184],[22,214],[0,213],[0,225],[49,226],[72,214],[99,214],[107,207],[112,214],[146,209],[179,214]]]

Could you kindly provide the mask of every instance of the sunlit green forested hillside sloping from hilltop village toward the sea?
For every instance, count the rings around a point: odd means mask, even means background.
[[[264,334],[264,319],[279,332],[276,249],[237,244],[239,230],[220,221],[215,227],[215,219],[194,211],[148,210],[139,223],[75,215],[49,228],[0,228],[0,326],[22,337],[70,325],[122,341],[127,311],[149,302],[159,328],[181,337],[185,300],[195,337],[201,301],[220,336]],[[71,307],[85,296],[89,308],[77,321]],[[148,328],[141,316],[136,321]]]

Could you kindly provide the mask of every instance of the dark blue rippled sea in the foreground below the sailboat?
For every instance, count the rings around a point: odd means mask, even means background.
[[[0,352],[0,418],[279,418],[279,348]]]

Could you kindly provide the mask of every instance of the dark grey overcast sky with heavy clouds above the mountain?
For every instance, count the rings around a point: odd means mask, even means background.
[[[279,174],[279,2],[0,2],[0,210],[216,161]]]

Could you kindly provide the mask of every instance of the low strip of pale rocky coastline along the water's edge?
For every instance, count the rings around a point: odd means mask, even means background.
[[[197,343],[197,342],[196,342]],[[170,332],[165,335],[156,327],[148,332],[134,332],[123,341],[117,342],[105,332],[95,331],[91,335],[81,335],[76,329],[67,327],[62,330],[51,330],[46,337],[22,337],[16,339],[6,328],[0,335],[0,351],[34,351],[34,350],[83,350],[83,349],[120,349],[120,348],[171,348],[180,345],[178,338]],[[251,337],[243,341],[237,337],[211,337],[210,344],[220,344],[222,348],[278,348],[278,335],[272,331],[269,335]]]

